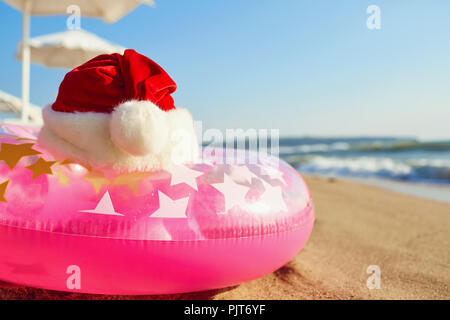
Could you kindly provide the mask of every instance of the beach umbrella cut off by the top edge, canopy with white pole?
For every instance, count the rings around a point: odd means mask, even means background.
[[[23,12],[22,28],[22,120],[27,121],[30,91],[30,16],[67,14],[69,7],[78,6],[82,16],[115,22],[141,3],[153,5],[153,0],[4,0]]]

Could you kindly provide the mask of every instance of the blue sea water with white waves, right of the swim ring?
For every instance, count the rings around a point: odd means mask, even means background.
[[[450,141],[282,138],[279,144],[280,157],[300,173],[346,177],[450,202]]]

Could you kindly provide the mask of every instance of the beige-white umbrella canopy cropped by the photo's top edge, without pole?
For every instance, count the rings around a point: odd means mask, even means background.
[[[27,11],[27,0],[4,0],[12,7]],[[36,16],[67,14],[67,8],[76,5],[81,15],[115,22],[141,3],[153,6],[153,0],[31,0],[29,14]]]

